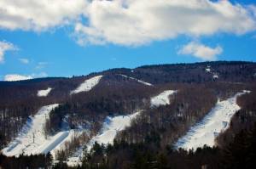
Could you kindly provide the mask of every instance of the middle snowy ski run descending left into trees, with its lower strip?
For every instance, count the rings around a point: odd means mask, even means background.
[[[131,115],[118,115],[113,117],[108,116],[103,123],[101,132],[99,132],[94,138],[90,140],[88,144],[86,144],[87,149],[90,150],[93,144],[96,142],[98,144],[113,144],[113,139],[115,138],[117,132],[124,130],[125,127],[129,127],[131,125],[132,119],[136,118],[140,112],[141,111],[138,111],[137,113]],[[68,158],[68,166],[78,165],[82,156],[83,147],[81,147],[74,155]]]

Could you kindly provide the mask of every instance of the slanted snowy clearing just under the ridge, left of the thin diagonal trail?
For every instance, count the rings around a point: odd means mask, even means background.
[[[102,75],[94,76],[94,77],[91,77],[90,79],[85,80],[83,83],[79,85],[79,87],[71,91],[70,94],[90,91],[93,87],[95,87],[101,81],[102,77],[103,77]]]

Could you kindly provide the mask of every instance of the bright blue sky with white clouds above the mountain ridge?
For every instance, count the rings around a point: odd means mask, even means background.
[[[0,80],[12,80],[14,76],[79,76],[117,67],[205,60],[256,61],[256,3],[253,0],[204,0],[206,6],[194,3],[203,8],[195,11],[185,3],[172,4],[168,0],[166,4],[155,2],[146,7],[143,3],[117,1],[116,4],[106,3],[111,12],[102,2],[85,4],[83,1],[78,0],[77,6],[73,4],[73,11],[61,7],[60,14],[56,15],[51,13],[51,8],[43,8],[42,14],[49,14],[49,17],[44,16],[42,20],[40,14],[27,7],[24,11],[29,11],[28,14],[17,12],[18,20],[13,19],[11,13],[0,14],[0,21],[3,18],[2,23],[6,23],[0,24]],[[29,3],[29,0],[24,2]],[[53,5],[58,7],[61,0],[55,2]],[[6,1],[0,3],[0,8],[7,5],[17,8],[20,4]],[[142,14],[133,15],[133,8],[140,8]],[[176,8],[182,11],[177,12]],[[243,13],[240,10],[244,10]],[[218,14],[219,11],[222,12]],[[206,14],[212,26],[204,23]],[[160,21],[154,17],[160,17]],[[8,79],[8,75],[13,76]]]

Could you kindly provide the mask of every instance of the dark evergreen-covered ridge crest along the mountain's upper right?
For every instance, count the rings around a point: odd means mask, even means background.
[[[206,71],[209,66],[210,72]],[[203,62],[195,64],[146,65],[133,72],[120,70],[153,84],[169,82],[204,83],[204,82],[255,82],[256,64],[252,62]],[[218,75],[218,78],[213,78]]]

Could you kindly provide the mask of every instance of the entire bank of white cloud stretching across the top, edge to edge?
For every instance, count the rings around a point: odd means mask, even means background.
[[[221,0],[0,1],[0,27],[44,31],[71,25],[81,45],[136,46],[179,35],[241,35],[255,31],[255,14],[253,5]]]

